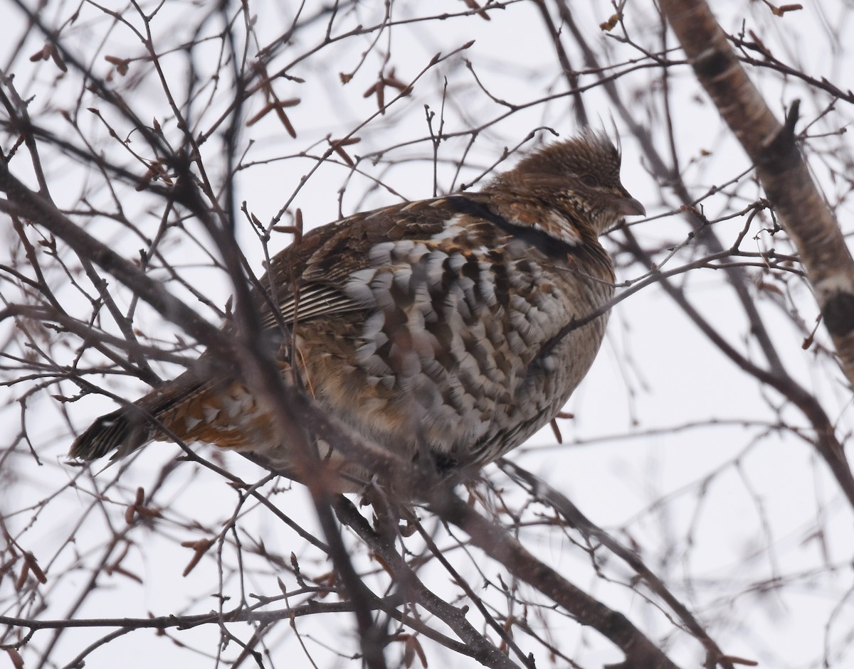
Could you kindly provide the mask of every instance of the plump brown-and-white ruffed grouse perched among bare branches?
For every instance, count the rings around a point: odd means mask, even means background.
[[[606,313],[571,323],[614,292],[598,237],[644,213],[619,172],[617,148],[588,130],[480,192],[312,230],[272,259],[261,279],[272,300],[255,295],[261,320],[279,340],[278,323],[293,330],[302,387],[363,438],[412,458],[426,445],[440,470],[492,462],[553,419],[599,350]],[[98,419],[70,455],[167,439],[139,418],[153,416],[184,442],[253,451],[285,470],[293,457],[239,381],[190,369],[135,404]],[[326,451],[349,480],[342,489],[370,479]]]

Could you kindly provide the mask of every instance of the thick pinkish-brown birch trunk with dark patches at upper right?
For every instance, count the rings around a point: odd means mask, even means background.
[[[661,8],[700,84],[755,163],[777,217],[798,247],[825,328],[854,387],[854,260],[798,151],[798,101],[781,124],[747,77],[705,0],[662,0]]]

